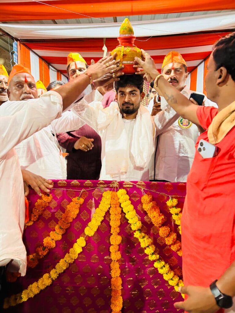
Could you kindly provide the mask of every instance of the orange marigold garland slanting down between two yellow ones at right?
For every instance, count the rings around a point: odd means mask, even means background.
[[[160,210],[151,194],[145,194],[141,197],[141,202],[144,210],[148,213],[152,223],[156,227],[160,227],[165,221],[165,216],[160,213]],[[164,238],[165,243],[170,246],[172,251],[175,251],[179,256],[182,256],[181,243],[177,240],[175,232],[170,231],[169,226],[161,226],[159,228],[159,236]]]

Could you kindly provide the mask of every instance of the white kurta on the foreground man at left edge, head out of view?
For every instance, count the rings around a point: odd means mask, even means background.
[[[8,116],[4,105],[0,106],[0,262],[13,259],[21,275],[25,275],[27,265],[22,241],[24,184],[14,146],[49,125],[62,112],[62,98],[54,91],[27,102],[30,105],[24,101],[8,101]]]

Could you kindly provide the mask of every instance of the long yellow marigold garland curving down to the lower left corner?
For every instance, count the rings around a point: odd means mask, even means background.
[[[105,191],[103,193],[100,205],[92,216],[91,222],[88,223],[88,225],[90,225],[85,228],[85,233],[87,236],[93,236],[93,234],[101,224],[105,213],[110,207],[110,193],[110,191]],[[23,290],[21,293],[17,295],[12,295],[9,298],[5,298],[3,308],[7,309],[10,306],[15,306],[19,303],[27,301],[29,298],[33,298],[47,286],[50,286],[52,282],[59,276],[59,274],[63,273],[65,269],[67,269],[69,265],[76,260],[78,254],[82,252],[82,248],[85,247],[85,245],[85,238],[80,236],[77,239],[76,243],[73,245],[73,247],[69,250],[69,253],[65,254],[65,257],[56,264],[54,269],[52,269],[49,273],[44,274],[37,282],[29,285],[29,287]]]

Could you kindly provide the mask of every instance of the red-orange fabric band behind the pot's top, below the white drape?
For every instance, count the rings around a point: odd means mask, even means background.
[[[140,46],[144,50],[172,49],[172,47],[174,48],[197,47],[204,45],[212,45],[218,39],[227,34],[228,32],[187,34],[187,35],[159,36],[152,37],[150,39],[149,37],[141,37],[140,38],[141,42],[136,40],[135,44],[137,46]],[[69,51],[69,52],[79,52],[81,54],[82,51],[102,51],[102,47],[104,45],[102,38],[78,39],[76,41],[35,42],[25,44],[32,50],[39,49],[39,50]],[[118,45],[118,40],[116,38],[107,38],[105,44],[108,48],[108,51],[111,51]]]

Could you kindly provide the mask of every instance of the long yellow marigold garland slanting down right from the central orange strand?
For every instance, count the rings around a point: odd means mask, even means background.
[[[147,234],[141,232],[142,223],[138,220],[138,216],[126,190],[119,189],[117,193],[123,212],[126,214],[131,228],[135,230],[134,237],[138,238],[141,247],[145,248],[144,252],[149,256],[149,259],[155,261],[154,267],[158,269],[158,272],[163,275],[163,278],[168,281],[169,285],[174,286],[175,290],[178,290],[183,285],[183,281],[170,269],[169,264],[160,259],[159,254],[155,252],[156,248],[152,239]]]

